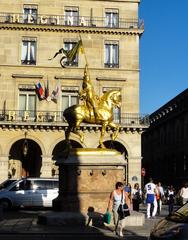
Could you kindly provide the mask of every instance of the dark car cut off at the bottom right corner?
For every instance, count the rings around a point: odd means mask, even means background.
[[[188,203],[170,216],[160,220],[152,229],[150,240],[187,240]]]

